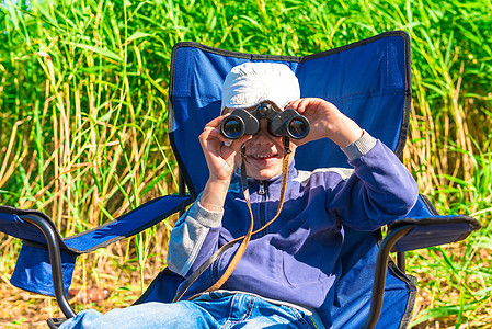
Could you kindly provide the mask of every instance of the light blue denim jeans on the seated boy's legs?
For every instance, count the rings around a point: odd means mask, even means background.
[[[305,313],[245,294],[215,295],[179,303],[145,303],[101,315],[83,310],[69,328],[317,328]]]

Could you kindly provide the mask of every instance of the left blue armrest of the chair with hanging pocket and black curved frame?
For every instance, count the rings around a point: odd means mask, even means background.
[[[65,239],[45,214],[0,206],[0,230],[24,242],[11,283],[34,293],[54,295],[65,316],[73,317],[66,292],[78,254],[140,232],[192,201],[190,195],[158,197],[105,225]]]

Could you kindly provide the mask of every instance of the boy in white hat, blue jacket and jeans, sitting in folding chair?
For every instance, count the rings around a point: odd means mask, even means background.
[[[127,328],[331,327],[332,287],[341,271],[344,226],[374,230],[404,216],[416,202],[417,186],[391,150],[333,104],[321,99],[300,99],[297,78],[285,65],[247,63],[227,76],[222,88],[224,115],[208,123],[199,136],[209,179],[171,232],[168,264],[173,272],[188,277],[218,248],[245,235],[250,212],[241,191],[239,168],[243,161],[253,230],[275,217],[286,152],[282,138],[270,134],[266,118],[260,120],[260,129],[253,136],[228,140],[219,132],[221,121],[234,109],[254,111],[262,103],[276,111],[297,110],[309,120],[310,132],[289,145],[287,189],[279,216],[252,236],[226,283],[219,290],[201,294],[221,277],[241,241],[208,266],[183,293],[181,302],[148,303],[104,316],[84,311],[67,325],[79,321]],[[342,148],[354,170],[296,170],[296,147],[324,137]],[[66,324],[62,328],[77,328]]]

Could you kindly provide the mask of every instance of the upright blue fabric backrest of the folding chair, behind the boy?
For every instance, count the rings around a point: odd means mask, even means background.
[[[176,44],[172,53],[169,129],[191,193],[198,194],[208,178],[197,137],[205,124],[220,113],[226,75],[244,61],[286,64],[299,79],[302,98],[318,97],[334,103],[401,156],[412,91],[409,44],[404,32],[388,32],[305,57],[234,53],[197,43]],[[328,139],[298,148],[296,164],[306,170],[348,167],[340,148]]]

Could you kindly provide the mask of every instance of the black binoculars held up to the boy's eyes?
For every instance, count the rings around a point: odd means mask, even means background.
[[[260,118],[268,120],[268,133],[276,137],[288,136],[302,139],[309,133],[309,121],[294,109],[276,111],[270,103],[261,103],[254,111],[234,110],[220,123],[220,134],[228,139],[254,135],[260,128]]]

